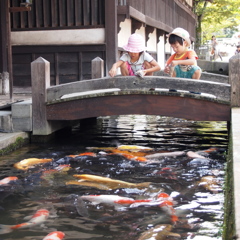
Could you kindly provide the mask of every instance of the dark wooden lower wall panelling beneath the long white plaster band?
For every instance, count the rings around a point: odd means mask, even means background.
[[[51,85],[91,79],[91,61],[105,61],[105,45],[14,46],[14,86],[31,86],[31,62],[42,57],[50,62]]]

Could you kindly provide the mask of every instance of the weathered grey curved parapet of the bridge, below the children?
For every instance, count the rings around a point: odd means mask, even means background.
[[[188,96],[198,99],[209,98],[211,101],[230,102],[231,86],[227,83],[211,82],[205,80],[193,80],[183,78],[170,78],[165,76],[148,76],[140,77],[123,77],[118,76],[114,78],[105,77],[100,79],[84,80],[74,82],[71,84],[62,84],[53,86],[47,89],[47,102],[61,101],[66,95],[82,96],[83,93],[94,90],[106,90],[118,88],[122,92],[131,91],[139,93],[154,94],[154,92],[162,93],[164,95],[180,95],[182,97]],[[169,91],[169,89],[171,91]],[[175,93],[174,93],[175,92]],[[192,94],[189,94],[192,93]],[[201,93],[201,94],[194,94]]]

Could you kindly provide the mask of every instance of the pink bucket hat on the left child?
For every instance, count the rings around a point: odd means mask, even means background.
[[[128,44],[123,46],[123,49],[127,52],[143,52],[146,50],[145,42],[140,34],[134,33],[128,39]]]

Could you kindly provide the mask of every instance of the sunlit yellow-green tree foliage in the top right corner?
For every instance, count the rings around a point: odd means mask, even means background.
[[[194,0],[197,16],[196,44],[212,35],[231,37],[240,25],[239,0]]]

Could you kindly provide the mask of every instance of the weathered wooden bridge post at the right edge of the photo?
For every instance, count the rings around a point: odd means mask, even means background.
[[[231,85],[231,107],[240,107],[240,54],[229,59],[229,83]]]

